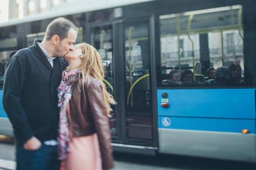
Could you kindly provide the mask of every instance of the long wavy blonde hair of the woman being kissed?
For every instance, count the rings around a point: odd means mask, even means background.
[[[107,114],[112,111],[110,104],[116,104],[113,96],[107,92],[106,86],[103,82],[103,79],[105,77],[104,68],[102,65],[102,60],[100,57],[100,54],[97,52],[97,50],[92,47],[90,44],[87,43],[80,43],[77,44],[78,48],[82,49],[82,56],[81,58],[81,65],[80,65],[80,77],[79,82],[84,86],[85,79],[87,78],[88,84],[90,83],[89,76],[97,79],[102,87],[102,96],[103,96],[103,102],[107,109]]]

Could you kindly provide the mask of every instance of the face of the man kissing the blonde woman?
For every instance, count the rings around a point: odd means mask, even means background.
[[[57,43],[56,54],[57,57],[63,57],[69,51],[74,49],[73,44],[76,42],[77,31],[75,29],[70,29],[67,34],[67,38],[62,39]]]

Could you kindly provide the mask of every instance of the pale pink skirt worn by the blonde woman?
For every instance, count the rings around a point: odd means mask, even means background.
[[[102,170],[97,134],[74,137],[70,152],[61,164],[61,170]]]

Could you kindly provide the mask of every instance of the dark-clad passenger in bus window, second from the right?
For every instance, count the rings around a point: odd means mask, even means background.
[[[215,74],[215,84],[219,86],[229,86],[230,76],[228,67],[218,67]]]

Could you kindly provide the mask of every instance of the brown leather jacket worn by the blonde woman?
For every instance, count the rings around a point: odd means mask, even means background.
[[[106,107],[102,102],[102,88],[100,82],[90,77],[85,81],[85,86],[73,82],[71,86],[72,97],[70,99],[70,121],[72,137],[88,136],[97,133],[99,139],[101,161],[103,169],[114,167],[112,156],[111,134],[109,118],[106,114]]]

